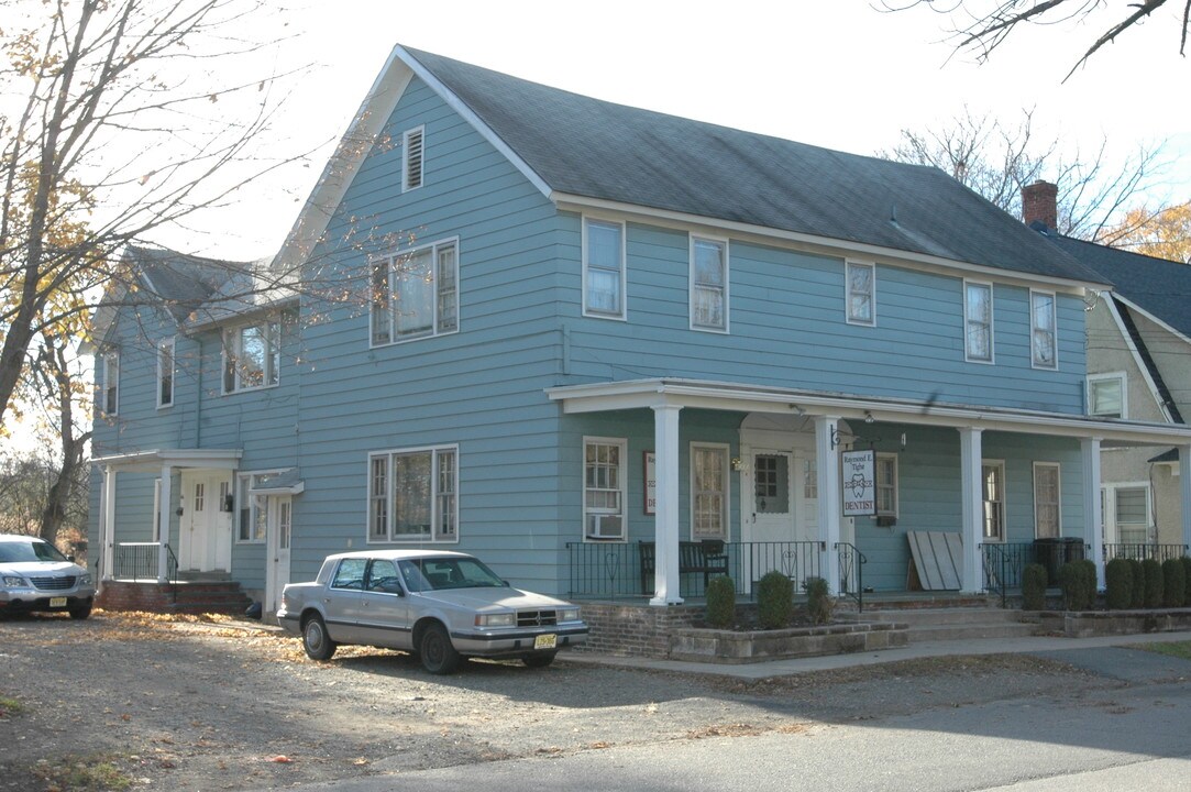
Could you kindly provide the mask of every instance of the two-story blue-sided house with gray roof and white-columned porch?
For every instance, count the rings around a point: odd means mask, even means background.
[[[975,592],[1000,547],[1099,557],[1102,448],[1179,447],[1191,479],[1187,428],[1085,409],[1106,279],[933,168],[398,46],[282,250],[229,281],[292,269],[105,317],[105,579],[156,543],[158,576],[222,569],[268,611],[329,553],[413,544],[671,605],[703,582],[682,543],[723,542],[742,592],[853,591],[861,560],[902,591],[925,532]],[[872,451],[847,481],[843,451]]]

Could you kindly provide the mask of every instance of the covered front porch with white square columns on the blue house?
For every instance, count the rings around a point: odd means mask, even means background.
[[[1191,544],[1186,426],[690,380],[567,386],[548,395],[578,422],[585,443],[588,435],[629,435],[623,475],[644,480],[641,489],[625,488],[646,507],[637,513],[625,504],[618,535],[585,529],[582,541],[567,544],[563,590],[575,598],[676,605],[700,597],[712,574],[730,575],[749,595],[773,569],[797,587],[824,578],[837,595],[908,591],[911,531],[956,537],[953,590],[962,593],[1004,585],[996,574],[1002,557],[1037,538],[1078,540],[1103,584],[1099,459],[1116,445],[1184,449],[1183,537]],[[844,513],[841,454],[853,449],[878,459],[874,515]],[[723,460],[721,492],[700,488],[697,454]],[[718,497],[725,519],[709,536],[701,510]]]

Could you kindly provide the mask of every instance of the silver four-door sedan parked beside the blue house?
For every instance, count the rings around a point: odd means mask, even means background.
[[[432,674],[463,657],[530,667],[587,638],[579,606],[511,588],[479,559],[441,550],[360,550],[328,556],[318,579],[291,584],[278,622],[312,660],[339,644],[404,649]]]

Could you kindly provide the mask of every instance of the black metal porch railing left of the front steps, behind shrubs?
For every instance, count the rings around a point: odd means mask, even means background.
[[[849,545],[850,547],[850,545]],[[809,578],[823,575],[823,542],[727,542],[728,575],[738,595],[750,597],[761,578],[773,570],[804,591]],[[572,598],[641,598],[653,595],[653,579],[642,581],[637,542],[568,542]],[[859,584],[859,573],[858,573]],[[679,594],[706,594],[703,572],[680,572]]]

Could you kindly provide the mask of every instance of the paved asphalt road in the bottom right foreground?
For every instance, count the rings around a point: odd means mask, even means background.
[[[401,772],[304,792],[534,788],[1079,792],[1191,790],[1191,661],[1125,648],[1039,653],[1122,685],[791,732],[611,747]]]

